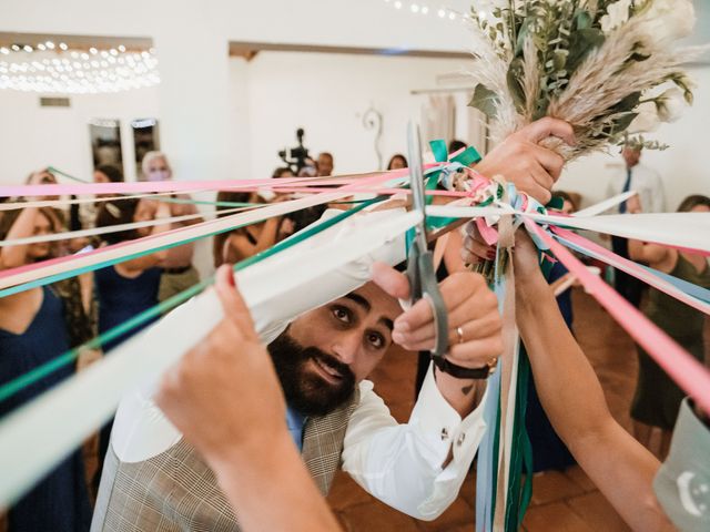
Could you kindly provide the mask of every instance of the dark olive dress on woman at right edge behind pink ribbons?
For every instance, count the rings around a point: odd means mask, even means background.
[[[670,275],[710,288],[710,267],[706,265],[704,269],[698,273],[681,254],[678,254],[678,263]],[[704,314],[655,288],[649,289],[643,314],[694,358],[703,361]],[[672,430],[686,393],[640,346],[637,346],[637,349],[639,380],[631,405],[631,417],[646,424]]]

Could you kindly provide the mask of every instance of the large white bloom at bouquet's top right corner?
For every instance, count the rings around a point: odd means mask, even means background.
[[[690,0],[649,0],[640,17],[645,19],[647,47],[659,50],[690,35],[696,25],[696,10]]]

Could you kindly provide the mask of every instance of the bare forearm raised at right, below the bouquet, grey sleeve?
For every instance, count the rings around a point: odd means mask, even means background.
[[[516,318],[535,386],[555,430],[633,530],[673,530],[652,490],[659,461],[611,417],[587,357],[565,325],[537,253],[518,234]]]

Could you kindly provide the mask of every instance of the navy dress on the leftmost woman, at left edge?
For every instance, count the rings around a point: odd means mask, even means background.
[[[69,350],[62,303],[50,288],[43,287],[42,291],[42,305],[23,334],[0,329],[0,383],[16,379]],[[72,366],[63,367],[0,402],[0,417],[72,374]],[[51,438],[52,434],[47,437]],[[72,452],[10,508],[8,519],[9,532],[88,531],[91,507],[81,450]]]

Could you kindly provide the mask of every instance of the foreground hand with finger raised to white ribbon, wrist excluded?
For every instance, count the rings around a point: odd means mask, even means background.
[[[224,318],[163,377],[158,406],[214,466],[257,452],[286,430],[286,407],[248,308],[222,266],[215,289]],[[246,454],[245,454],[246,456]]]

